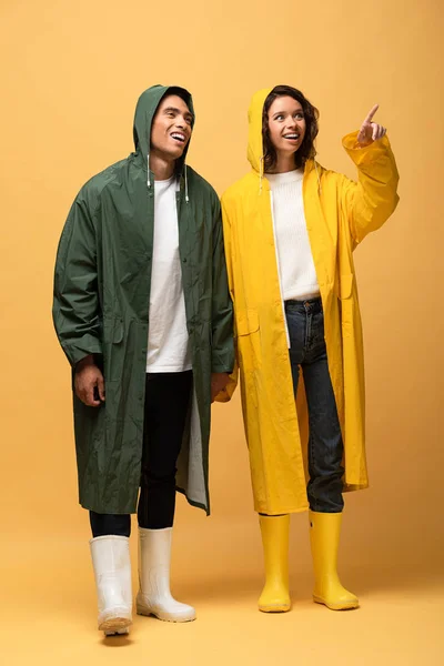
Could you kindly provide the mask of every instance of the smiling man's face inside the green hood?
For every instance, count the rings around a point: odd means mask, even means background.
[[[151,128],[151,153],[178,160],[191,138],[193,117],[176,94],[169,94],[158,107]]]

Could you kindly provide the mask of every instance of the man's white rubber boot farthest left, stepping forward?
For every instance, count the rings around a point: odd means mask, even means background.
[[[132,624],[130,539],[97,536],[90,541],[98,595],[99,630],[128,634]]]

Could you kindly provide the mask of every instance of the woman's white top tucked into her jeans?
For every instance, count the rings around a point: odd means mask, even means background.
[[[302,169],[268,173],[272,194],[274,235],[284,301],[319,296],[302,196]]]

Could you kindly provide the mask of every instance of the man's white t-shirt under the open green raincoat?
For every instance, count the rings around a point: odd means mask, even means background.
[[[147,372],[191,370],[175,176],[154,181],[154,243],[150,292]]]

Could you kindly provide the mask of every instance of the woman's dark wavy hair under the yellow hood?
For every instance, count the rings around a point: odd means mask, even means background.
[[[314,140],[317,137],[319,127],[319,111],[309,100],[303,95],[296,88],[291,85],[276,85],[273,88],[271,93],[265,99],[263,111],[262,111],[262,142],[264,152],[264,171],[270,171],[275,167],[278,161],[276,150],[270,139],[269,130],[269,111],[270,107],[279,97],[291,97],[300,102],[305,118],[305,137],[299,150],[294,153],[294,163],[296,169],[304,167],[306,160],[314,159],[316,149],[314,148]]]

